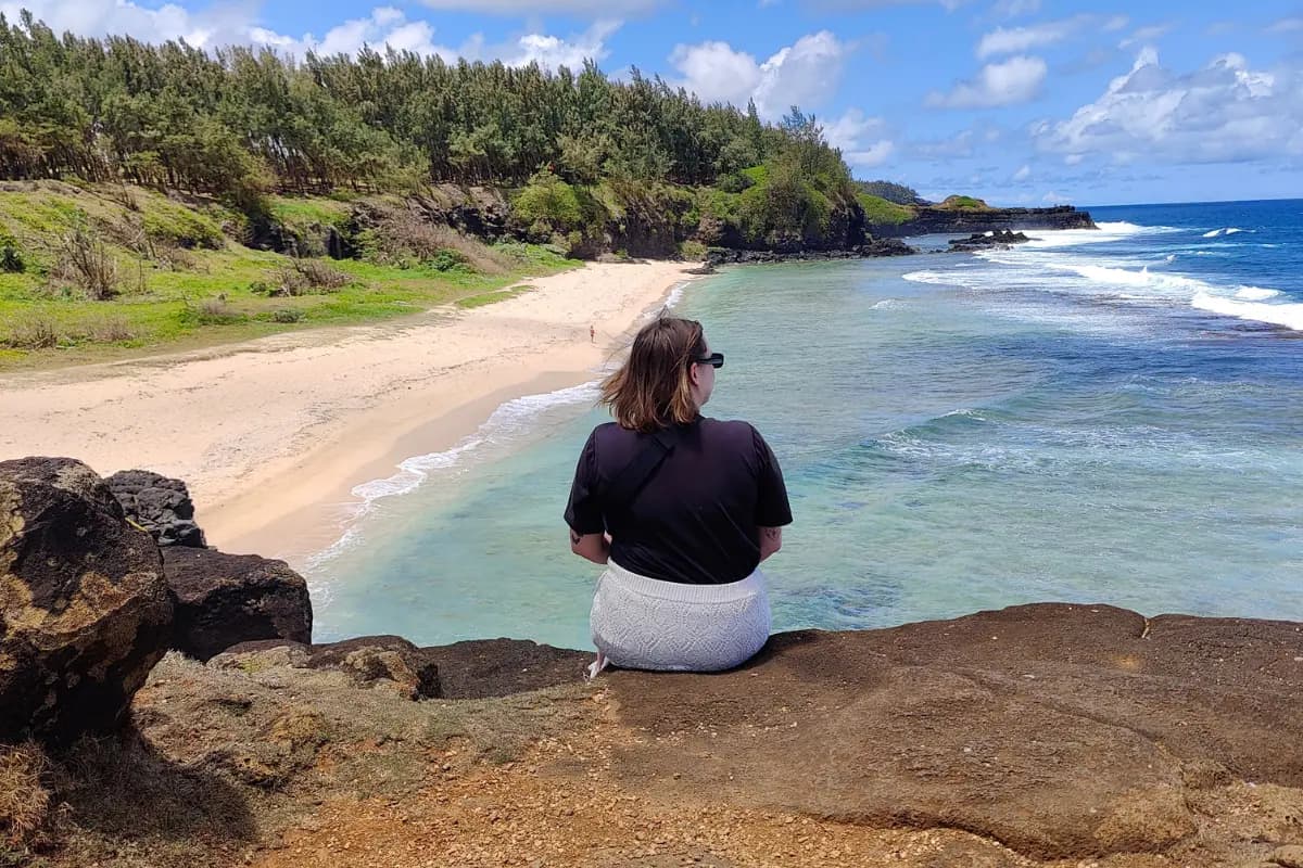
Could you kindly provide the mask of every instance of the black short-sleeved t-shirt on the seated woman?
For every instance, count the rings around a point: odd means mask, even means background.
[[[671,452],[631,508],[605,495],[652,435],[614,422],[589,435],[575,468],[566,523],[576,534],[611,535],[611,560],[666,582],[724,584],[760,563],[757,527],[791,524],[783,472],[769,444],[745,422],[697,418],[678,426]]]

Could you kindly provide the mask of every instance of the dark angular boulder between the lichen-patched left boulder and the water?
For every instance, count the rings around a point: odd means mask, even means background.
[[[214,549],[163,549],[176,601],[172,647],[207,660],[255,639],[311,642],[308,583],[284,561]]]

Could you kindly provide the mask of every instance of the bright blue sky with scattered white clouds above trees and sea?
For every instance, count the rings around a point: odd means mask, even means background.
[[[0,0],[56,31],[362,44],[659,75],[813,113],[857,178],[929,199],[1303,197],[1303,0]]]

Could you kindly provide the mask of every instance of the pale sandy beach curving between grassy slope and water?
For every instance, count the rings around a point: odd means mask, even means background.
[[[474,310],[4,376],[0,459],[184,479],[210,545],[297,561],[337,536],[354,485],[592,379],[689,267],[588,264]]]

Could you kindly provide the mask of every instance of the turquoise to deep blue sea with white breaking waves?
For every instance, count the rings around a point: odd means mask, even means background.
[[[788,480],[775,629],[1035,600],[1303,619],[1303,203],[1229,207],[689,286],[678,312],[728,359],[706,413],[753,422]],[[309,569],[318,635],[588,647],[599,567],[560,513],[592,398],[513,402],[369,489]]]

